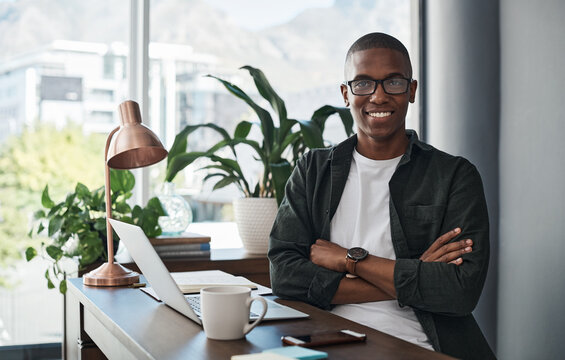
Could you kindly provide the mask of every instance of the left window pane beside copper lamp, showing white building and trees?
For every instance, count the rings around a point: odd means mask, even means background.
[[[25,262],[22,252],[34,241],[27,233],[45,184],[61,201],[77,181],[103,183],[104,136],[127,95],[128,14],[123,1],[0,0],[0,349],[10,346],[0,358],[18,358],[26,344],[61,342],[62,296],[47,289],[46,264]],[[97,146],[69,141],[81,148],[54,153],[65,135],[83,133],[97,136]],[[43,138],[47,134],[56,140]],[[83,161],[95,159],[86,169],[90,175],[74,164],[40,159],[67,159],[73,152],[88,153]],[[46,170],[53,164],[59,164],[57,176]],[[60,353],[60,345],[47,348]]]

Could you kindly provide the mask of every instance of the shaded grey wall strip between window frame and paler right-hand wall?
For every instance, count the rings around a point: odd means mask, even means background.
[[[494,350],[500,113],[498,3],[434,0],[427,1],[426,6],[426,141],[469,159],[483,179],[489,208],[491,258],[474,315]]]

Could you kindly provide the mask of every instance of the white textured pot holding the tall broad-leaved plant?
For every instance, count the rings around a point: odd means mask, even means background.
[[[267,254],[269,234],[277,216],[277,199],[236,199],[233,210],[245,250],[251,254]]]

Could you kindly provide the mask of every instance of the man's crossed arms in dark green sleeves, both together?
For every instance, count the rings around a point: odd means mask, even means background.
[[[311,199],[306,191],[312,192],[318,186],[318,177],[311,179],[305,175],[314,166],[308,164],[306,158],[289,180],[271,232],[269,260],[273,293],[323,309],[331,308],[332,304],[389,299],[450,316],[466,315],[474,309],[486,277],[489,244],[482,183],[471,164],[458,161],[454,172],[448,174],[452,181],[446,198],[436,202],[445,204],[441,214],[437,214],[445,234],[419,258],[408,257],[406,252],[396,260],[369,256],[357,264],[357,279],[343,276],[346,249],[319,238],[312,243],[311,235],[319,237],[324,233],[327,211],[322,211],[325,203],[320,203],[325,198]],[[412,195],[411,203],[417,203],[417,194]],[[405,206],[406,201],[400,205]],[[422,220],[403,216],[406,222]],[[460,232],[448,231],[458,227]],[[403,230],[412,244],[421,244],[431,235],[427,230],[414,229]],[[455,240],[456,237],[465,242]],[[467,244],[469,238],[472,241]]]

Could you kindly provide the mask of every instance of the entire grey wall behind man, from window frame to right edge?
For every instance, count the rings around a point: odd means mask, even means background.
[[[477,165],[498,227],[477,318],[499,359],[562,359],[565,1],[426,4],[428,140]]]

